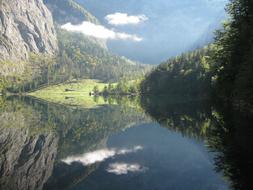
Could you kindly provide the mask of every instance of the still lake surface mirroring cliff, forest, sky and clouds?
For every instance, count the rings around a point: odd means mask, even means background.
[[[89,109],[2,98],[0,189],[250,190],[245,115],[187,98]]]

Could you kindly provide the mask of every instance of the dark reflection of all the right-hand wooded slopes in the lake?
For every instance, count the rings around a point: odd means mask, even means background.
[[[229,181],[230,189],[253,189],[252,115],[233,111],[222,103],[148,97],[141,102],[162,126],[182,135],[202,138],[214,155],[214,167]]]

